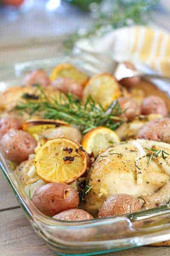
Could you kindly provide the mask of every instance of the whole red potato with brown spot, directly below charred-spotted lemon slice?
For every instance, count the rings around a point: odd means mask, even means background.
[[[59,212],[77,208],[79,195],[67,184],[48,183],[34,192],[32,201],[40,212],[52,217]]]

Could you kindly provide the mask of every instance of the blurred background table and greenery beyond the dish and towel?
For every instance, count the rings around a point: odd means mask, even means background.
[[[0,0],[0,64],[54,57],[133,24],[170,31],[169,0]]]

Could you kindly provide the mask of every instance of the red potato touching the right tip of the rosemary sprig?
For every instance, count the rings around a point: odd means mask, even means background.
[[[121,116],[127,118],[128,121],[132,121],[136,116],[140,115],[140,107],[134,99],[130,97],[120,97],[118,102],[122,111],[125,111]]]

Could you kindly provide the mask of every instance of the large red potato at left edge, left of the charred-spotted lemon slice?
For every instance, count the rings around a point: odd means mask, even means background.
[[[0,146],[8,160],[21,163],[34,153],[37,141],[25,131],[10,129],[3,135]]]

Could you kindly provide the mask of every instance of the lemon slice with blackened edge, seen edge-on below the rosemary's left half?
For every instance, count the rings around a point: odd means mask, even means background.
[[[40,134],[42,131],[59,126],[70,126],[61,120],[53,119],[29,119],[23,123],[23,130],[30,134]]]

